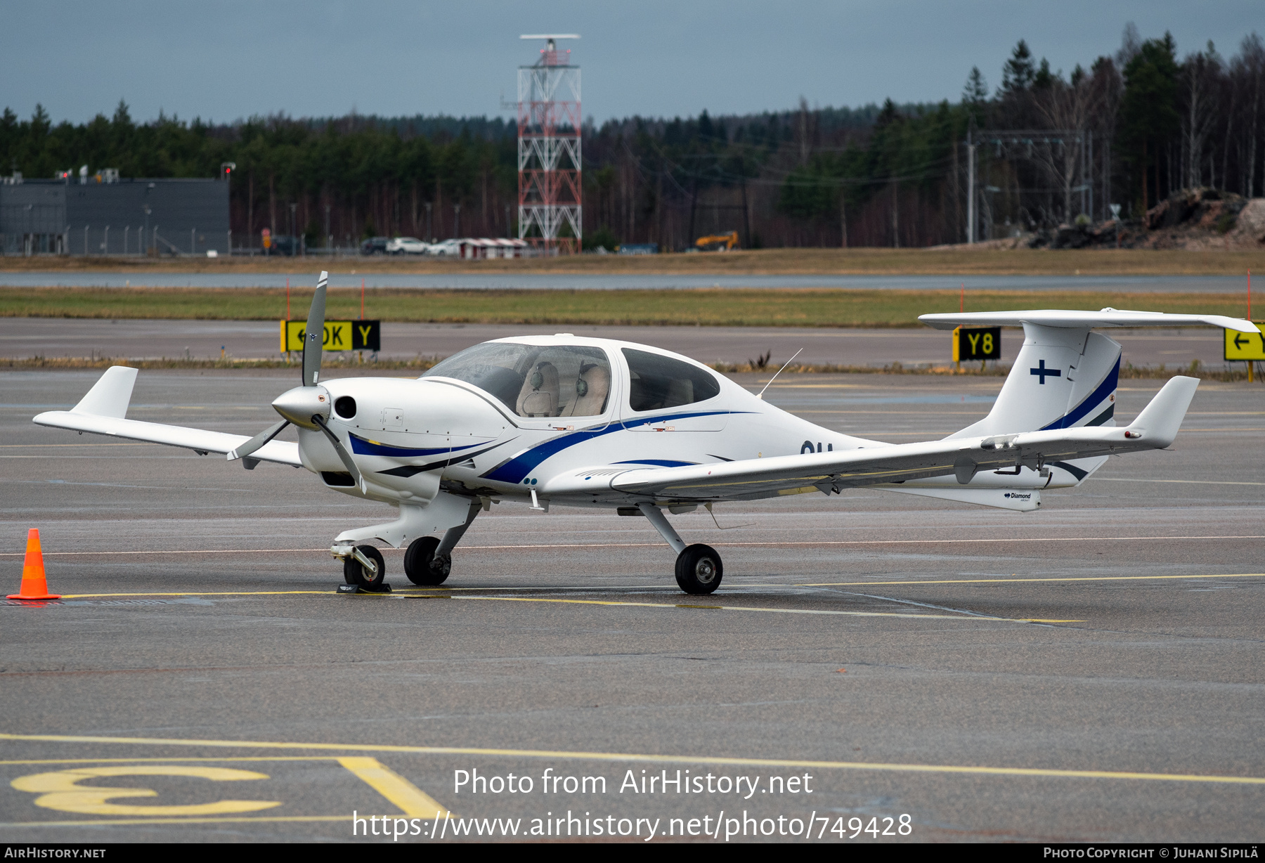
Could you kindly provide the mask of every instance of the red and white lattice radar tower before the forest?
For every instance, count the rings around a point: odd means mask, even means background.
[[[522,35],[544,39],[540,59],[519,67],[519,239],[545,254],[579,252],[579,67],[558,39],[573,33]]]

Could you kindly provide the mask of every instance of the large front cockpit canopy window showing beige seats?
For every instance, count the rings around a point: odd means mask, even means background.
[[[519,416],[597,416],[611,396],[611,363],[600,348],[484,342],[421,377],[453,377],[500,399]]]

